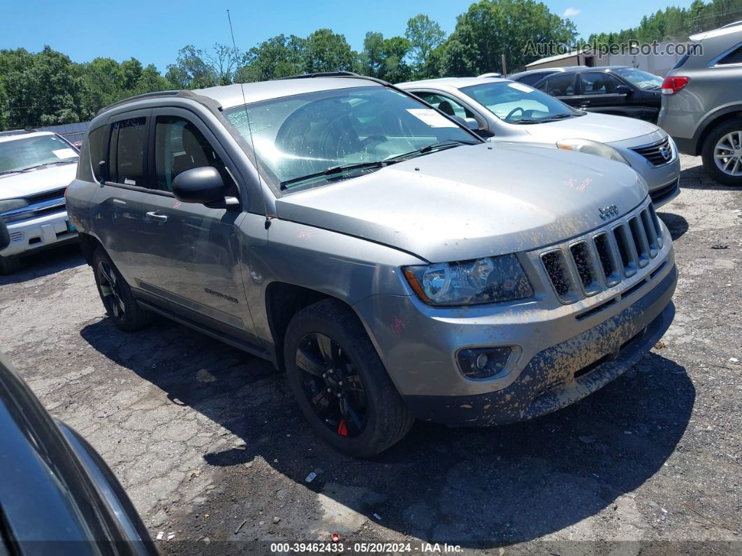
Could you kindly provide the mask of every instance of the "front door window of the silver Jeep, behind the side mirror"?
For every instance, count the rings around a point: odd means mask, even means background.
[[[192,122],[177,116],[158,116],[154,137],[157,189],[172,191],[178,174],[203,166],[213,166],[226,185],[234,184],[217,151]],[[236,188],[232,189],[229,194],[236,196]]]

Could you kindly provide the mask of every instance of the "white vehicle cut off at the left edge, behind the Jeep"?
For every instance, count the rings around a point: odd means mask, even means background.
[[[19,255],[70,241],[77,232],[65,207],[78,151],[50,131],[0,132],[0,218],[10,245],[0,250],[0,275],[19,268]]]

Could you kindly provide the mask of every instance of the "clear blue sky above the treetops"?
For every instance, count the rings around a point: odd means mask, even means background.
[[[138,58],[161,71],[184,45],[210,48],[229,43],[226,9],[230,9],[237,48],[247,50],[271,36],[306,36],[329,27],[361,49],[367,31],[384,36],[404,33],[407,19],[427,13],[450,33],[456,16],[472,0],[262,0],[194,1],[136,0],[99,2],[7,0],[1,8],[0,48],[37,51],[50,45],[75,62],[96,56],[116,60]],[[546,1],[549,9],[567,14],[580,35],[634,27],[642,16],[669,5],[688,7],[691,0]],[[146,17],[145,17],[146,14]]]

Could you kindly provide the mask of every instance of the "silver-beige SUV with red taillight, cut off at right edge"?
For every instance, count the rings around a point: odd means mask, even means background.
[[[663,82],[658,124],[716,181],[742,186],[742,22],[690,40]]]

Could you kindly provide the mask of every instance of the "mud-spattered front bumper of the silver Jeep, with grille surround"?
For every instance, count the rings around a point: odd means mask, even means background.
[[[661,336],[672,320],[672,310],[663,311],[671,303],[677,269],[664,225],[660,225],[662,241],[651,258],[620,278],[611,274],[611,284],[597,291],[586,287],[558,294],[541,257],[568,253],[585,241],[610,234],[621,235],[650,210],[645,200],[605,226],[520,254],[536,292],[531,300],[500,307],[430,307],[416,295],[372,295],[355,304],[355,310],[398,392],[421,419],[497,423],[553,411],[626,370],[635,360],[626,351],[630,346],[636,353],[649,350],[651,337]],[[665,316],[655,322],[660,314]],[[459,350],[505,346],[513,347],[513,355],[496,376],[472,380],[459,370]],[[593,369],[596,364],[603,370]],[[591,378],[586,369],[591,370]],[[603,378],[597,379],[599,375]],[[554,390],[556,401],[539,402],[548,409],[531,408],[536,399],[562,385],[569,385],[570,393]],[[473,405],[475,400],[480,401]],[[464,412],[460,418],[450,415],[454,408]],[[473,408],[479,410],[470,411]]]

